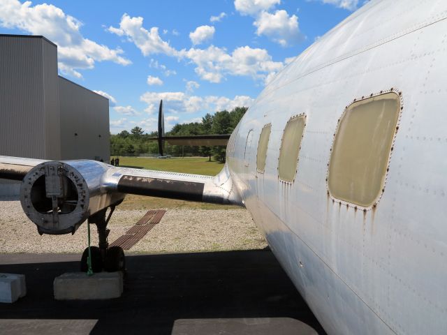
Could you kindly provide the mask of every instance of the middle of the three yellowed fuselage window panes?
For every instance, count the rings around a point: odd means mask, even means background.
[[[288,120],[286,124],[282,135],[281,149],[279,150],[278,174],[281,180],[292,182],[295,178],[305,121],[306,117],[300,115]]]

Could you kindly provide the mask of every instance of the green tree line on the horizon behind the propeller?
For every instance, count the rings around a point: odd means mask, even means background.
[[[201,122],[191,122],[189,124],[176,124],[173,129],[166,133],[166,136],[189,136],[189,135],[214,135],[230,134],[239,123],[240,119],[247,112],[247,107],[235,107],[228,112],[222,110],[213,115],[207,113],[202,117]],[[135,126],[131,131],[122,131],[117,135],[110,135],[110,156],[127,156],[138,154],[156,155],[159,153],[159,146],[156,141],[149,140],[157,137],[156,131],[144,133],[142,128]],[[165,144],[166,154],[170,156],[208,156],[217,161],[225,161],[226,147],[189,147],[182,145]]]

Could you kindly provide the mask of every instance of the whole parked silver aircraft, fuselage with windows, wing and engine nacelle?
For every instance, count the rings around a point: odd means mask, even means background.
[[[366,3],[264,89],[216,177],[4,156],[0,177],[39,232],[88,218],[103,242],[126,193],[244,205],[329,334],[447,334],[446,18]]]

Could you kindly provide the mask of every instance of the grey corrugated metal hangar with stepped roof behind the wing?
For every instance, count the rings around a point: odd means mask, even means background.
[[[0,34],[0,155],[110,160],[108,99],[57,75],[57,45]],[[0,196],[17,183],[0,179]]]

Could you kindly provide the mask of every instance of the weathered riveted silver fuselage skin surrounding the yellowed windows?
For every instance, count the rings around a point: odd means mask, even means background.
[[[446,17],[444,0],[367,3],[274,78],[228,143],[247,209],[329,334],[447,334]],[[332,202],[337,120],[354,99],[391,88],[403,109],[377,207]],[[302,113],[298,172],[281,183],[281,136]]]

